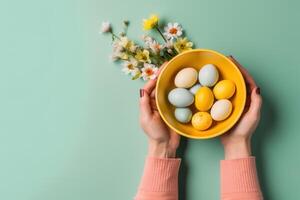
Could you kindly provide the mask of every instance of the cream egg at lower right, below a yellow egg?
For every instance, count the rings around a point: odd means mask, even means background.
[[[229,117],[232,111],[232,104],[227,99],[221,99],[214,103],[210,110],[211,117],[216,121],[222,121]]]

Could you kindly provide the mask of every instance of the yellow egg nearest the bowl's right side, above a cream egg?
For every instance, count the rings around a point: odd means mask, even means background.
[[[229,99],[235,93],[235,84],[231,80],[222,80],[213,89],[216,99]]]

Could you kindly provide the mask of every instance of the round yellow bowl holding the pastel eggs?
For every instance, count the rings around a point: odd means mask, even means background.
[[[214,122],[209,129],[199,131],[193,128],[191,123],[183,124],[175,119],[175,107],[168,102],[168,93],[175,88],[174,79],[181,69],[193,67],[199,71],[203,65],[209,63],[217,66],[220,74],[219,80],[229,79],[235,83],[236,92],[230,99],[233,105],[231,115],[224,121]],[[195,49],[181,53],[168,62],[157,80],[156,104],[162,119],[174,131],[189,138],[208,139],[225,133],[239,120],[243,113],[245,102],[246,85],[243,75],[230,59],[216,51]],[[194,105],[190,107],[193,113],[197,112]]]

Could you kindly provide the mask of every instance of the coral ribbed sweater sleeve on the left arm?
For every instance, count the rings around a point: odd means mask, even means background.
[[[180,159],[146,159],[135,200],[177,200]]]

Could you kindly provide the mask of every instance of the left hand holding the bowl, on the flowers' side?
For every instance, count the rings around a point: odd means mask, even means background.
[[[155,102],[155,86],[156,79],[149,80],[140,90],[140,124],[148,136],[149,156],[174,158],[180,136],[161,119]]]

